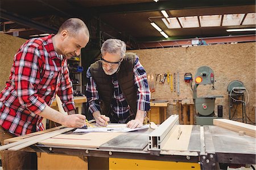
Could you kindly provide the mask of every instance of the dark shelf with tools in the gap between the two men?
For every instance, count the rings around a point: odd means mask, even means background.
[[[81,96],[82,92],[82,71],[84,68],[81,67],[81,55],[74,56],[68,60],[69,77],[71,78],[74,96]]]

